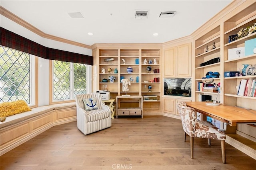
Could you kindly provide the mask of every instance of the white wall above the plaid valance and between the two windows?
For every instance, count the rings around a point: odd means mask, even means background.
[[[32,31],[18,25],[12,20],[0,15],[0,26],[12,31],[22,37],[30,39],[40,45],[44,45],[45,47],[70,51],[73,53],[79,53],[84,55],[92,55],[91,49],[86,49],[83,47],[78,47],[75,45],[70,45],[50,39],[45,39],[33,33]],[[89,67],[88,69],[91,69]],[[88,79],[91,82],[91,78]],[[89,84],[89,83],[88,83]],[[91,89],[91,86],[89,86]],[[90,92],[90,90],[88,90]],[[38,59],[38,106],[44,106],[49,104],[49,60],[43,59],[39,57]]]

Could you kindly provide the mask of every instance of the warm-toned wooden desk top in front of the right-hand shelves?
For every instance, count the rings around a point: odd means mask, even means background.
[[[236,123],[256,123],[256,111],[234,106],[208,106],[207,102],[186,102],[189,107],[193,107],[199,113],[208,115],[214,119],[223,121],[230,126]]]

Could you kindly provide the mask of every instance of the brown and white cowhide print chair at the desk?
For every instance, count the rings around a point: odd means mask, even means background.
[[[186,134],[190,136],[190,156],[193,159],[194,137],[221,140],[222,162],[226,163],[225,155],[225,139],[226,135],[223,131],[218,131],[218,128],[207,121],[198,121],[196,119],[196,111],[192,107],[188,107],[186,103],[179,102],[177,104],[180,113],[182,127],[185,132],[184,142],[186,142]]]

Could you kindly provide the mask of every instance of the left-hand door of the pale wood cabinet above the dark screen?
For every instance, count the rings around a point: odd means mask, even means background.
[[[176,47],[164,50],[164,77],[176,76]]]

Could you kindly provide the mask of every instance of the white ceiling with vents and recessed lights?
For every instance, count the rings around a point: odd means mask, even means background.
[[[44,33],[93,45],[164,43],[184,37],[230,2],[232,0],[1,0],[0,5]],[[135,19],[135,10],[149,10],[148,18]],[[159,18],[164,11],[176,11],[176,14],[172,18]],[[81,12],[84,18],[70,18],[68,12]],[[153,36],[153,33],[159,35]]]

